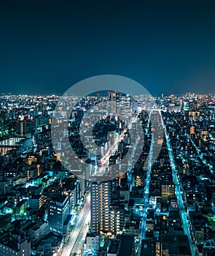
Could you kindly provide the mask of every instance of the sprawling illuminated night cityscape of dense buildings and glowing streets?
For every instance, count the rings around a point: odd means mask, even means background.
[[[66,116],[67,170],[63,135],[58,151],[51,137],[59,97],[1,95],[0,255],[215,254],[215,95],[152,97],[153,110],[144,97],[65,98],[76,102]],[[98,120],[102,102],[110,113]],[[135,121],[144,132],[140,155],[131,146],[141,140]],[[92,137],[82,143],[80,126],[85,135],[93,127],[99,152]]]

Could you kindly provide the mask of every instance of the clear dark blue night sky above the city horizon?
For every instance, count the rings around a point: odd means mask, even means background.
[[[63,94],[103,74],[215,93],[214,13],[213,1],[1,1],[0,93]]]

